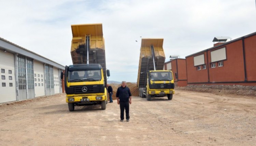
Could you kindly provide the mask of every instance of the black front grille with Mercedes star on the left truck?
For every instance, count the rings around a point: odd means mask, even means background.
[[[83,86],[70,86],[70,87],[74,87],[74,94],[104,93],[105,92],[103,85],[83,85]],[[86,88],[84,89],[83,87],[86,87]]]

